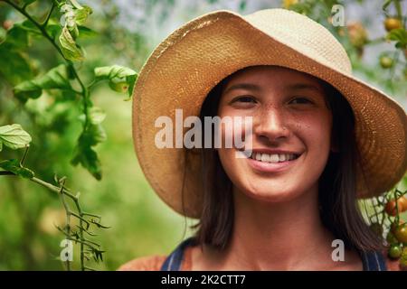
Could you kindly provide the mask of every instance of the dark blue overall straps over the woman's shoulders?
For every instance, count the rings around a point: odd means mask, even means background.
[[[184,250],[188,246],[194,245],[194,238],[187,238],[179,244],[175,250],[166,257],[166,261],[161,266],[161,271],[180,271],[184,258]],[[385,258],[381,252],[359,252],[364,271],[387,271]]]

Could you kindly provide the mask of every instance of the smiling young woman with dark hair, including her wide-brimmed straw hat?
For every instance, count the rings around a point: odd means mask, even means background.
[[[156,145],[156,120],[176,122],[176,109],[202,124],[251,117],[251,130],[242,131],[251,145],[216,147],[216,130],[204,127],[195,135],[201,145],[176,145],[191,122],[175,128],[175,145]],[[169,256],[137,258],[121,270],[395,268],[356,200],[391,189],[406,172],[406,114],[355,79],[341,44],[308,17],[219,11],[186,23],[141,70],[133,127],[156,193],[200,222]],[[222,144],[228,128],[218,126]],[[336,242],[344,245],[339,260]]]

